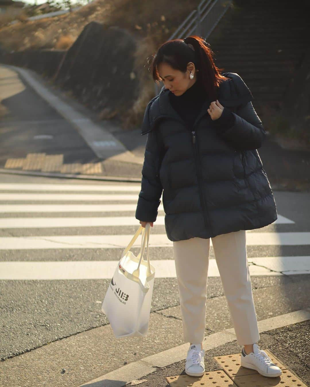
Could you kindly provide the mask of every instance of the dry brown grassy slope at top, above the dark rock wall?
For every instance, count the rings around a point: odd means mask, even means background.
[[[95,0],[75,12],[2,27],[0,43],[8,50],[54,48],[60,36],[77,37],[86,24],[97,21],[125,28],[137,38],[153,36],[159,44],[197,4],[180,0],[177,7],[167,7],[164,0]]]

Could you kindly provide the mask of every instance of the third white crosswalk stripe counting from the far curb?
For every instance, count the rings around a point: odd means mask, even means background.
[[[0,213],[16,212],[122,212],[136,211],[136,204],[0,204]],[[162,203],[158,211],[164,211]],[[294,223],[289,221],[287,223]]]

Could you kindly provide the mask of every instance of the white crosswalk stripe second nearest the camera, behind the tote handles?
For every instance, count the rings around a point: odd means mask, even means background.
[[[125,248],[131,235],[47,235],[10,236],[0,238],[0,250],[29,250],[55,248]],[[212,239],[210,239],[212,245]],[[310,245],[310,232],[296,233],[246,233],[246,245],[293,246]],[[134,246],[141,246],[141,234]],[[171,247],[173,242],[166,234],[152,234],[150,247]]]

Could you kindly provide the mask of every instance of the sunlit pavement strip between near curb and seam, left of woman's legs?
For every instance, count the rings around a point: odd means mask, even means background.
[[[29,387],[76,386],[127,363],[135,364],[139,358],[153,354],[154,346],[163,351],[180,342],[181,320],[151,313],[149,328],[146,339],[132,337],[127,338],[126,343],[115,338],[109,324],[48,342],[1,362],[1,383]],[[152,371],[152,367],[145,367],[145,362],[139,365],[145,373]]]

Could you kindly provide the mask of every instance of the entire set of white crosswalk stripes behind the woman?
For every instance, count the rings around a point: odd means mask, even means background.
[[[0,218],[1,229],[30,229],[30,228],[76,228],[76,227],[117,227],[136,226],[139,221],[135,218],[136,203],[141,184],[35,184],[35,183],[0,183],[0,200],[24,201],[25,203],[0,204],[0,213],[14,213],[17,217]],[[1,192],[2,191],[2,192]],[[11,192],[3,192],[11,191]],[[24,193],[22,193],[24,191]],[[115,194],[113,194],[115,192]],[[161,198],[160,198],[161,199]],[[125,201],[127,204],[115,201]],[[50,201],[53,204],[27,204],[27,201]],[[57,201],[66,201],[68,204],[58,204]],[[76,201],[112,202],[112,204],[74,204]],[[71,203],[70,203],[71,202]],[[73,202],[73,203],[72,203]],[[114,202],[114,203],[113,203]],[[22,213],[69,213],[78,212],[95,213],[131,212],[131,216],[88,216],[88,217],[21,217]],[[162,202],[158,212],[163,211]],[[95,215],[95,214],[94,214]],[[118,215],[118,214],[117,214]],[[158,215],[155,225],[163,226],[165,216]],[[278,219],[273,224],[295,224],[287,217],[278,214]],[[246,245],[251,246],[297,246],[310,245],[309,232],[254,232],[246,231]],[[85,249],[118,248],[123,250],[131,241],[133,235],[43,235],[43,236],[14,236],[0,237],[0,250],[38,250],[41,249]],[[173,247],[173,242],[166,234],[153,234],[150,236],[150,248]],[[133,247],[140,248],[141,235]],[[210,246],[212,239],[210,238]],[[121,255],[121,253],[119,254]],[[118,258],[118,257],[117,257]],[[145,252],[146,259],[146,252]],[[112,278],[118,260],[115,261],[52,261],[29,262],[14,261],[0,262],[0,279],[31,280],[31,279],[109,279]],[[156,268],[155,276],[158,278],[176,277],[174,260],[151,260]],[[256,257],[248,258],[250,274],[257,276],[305,274],[309,273],[310,257]],[[214,259],[209,261],[209,277],[219,277],[219,271]]]

